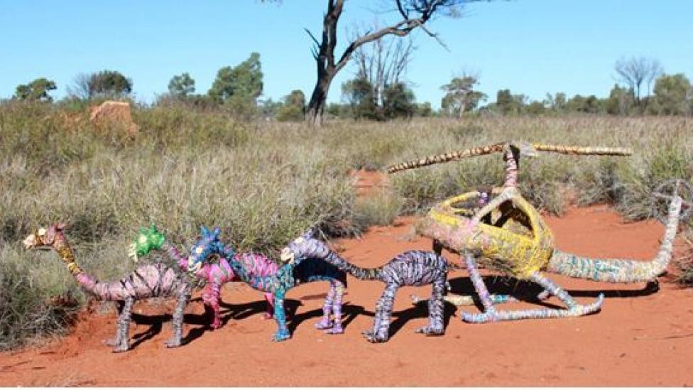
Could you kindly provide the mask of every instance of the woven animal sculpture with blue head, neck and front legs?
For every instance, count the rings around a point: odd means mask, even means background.
[[[209,232],[202,230],[202,237],[192,246],[188,259],[188,272],[197,273],[204,264],[208,264],[210,256],[226,256],[231,270],[241,281],[249,284],[256,290],[274,295],[274,319],[277,322],[277,331],[272,337],[274,341],[283,341],[291,337],[286,326],[286,314],[284,310],[284,297],[295,286],[313,281],[329,281],[329,292],[322,307],[322,319],[315,324],[320,330],[329,335],[344,332],[342,327],[342,296],[346,288],[346,273],[339,271],[337,267],[328,264],[322,259],[305,259],[292,264],[280,266],[273,275],[258,276],[251,274],[248,269],[229,255],[229,247],[219,241],[219,229]],[[334,318],[332,318],[334,315]]]

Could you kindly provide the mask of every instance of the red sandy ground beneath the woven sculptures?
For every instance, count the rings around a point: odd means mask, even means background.
[[[606,207],[569,210],[547,217],[561,249],[589,256],[655,255],[663,227],[658,222],[624,224]],[[342,255],[361,266],[377,266],[408,249],[430,249],[430,241],[409,239],[410,218],[395,227],[376,227],[362,239],[340,240]],[[459,261],[457,256],[449,259]],[[263,320],[261,293],[241,283],[224,288],[227,323],[204,327],[201,303],[186,313],[189,343],[167,350],[167,305],[136,305],[133,350],[110,352],[102,340],[115,330],[113,313],[84,313],[71,334],[39,348],[0,354],[3,386],[687,386],[693,384],[693,291],[661,283],[660,291],[633,285],[594,283],[550,276],[577,300],[603,291],[601,312],[583,318],[462,323],[452,307],[442,337],[413,330],[427,311],[408,295],[430,287],[402,288],[395,303],[391,340],[373,345],[361,337],[371,325],[383,285],[349,277],[346,334],[324,335],[320,317],[327,283],[311,283],[288,294],[294,312],[293,339],[270,341],[273,321]],[[471,291],[463,271],[450,275],[453,291]],[[487,281],[492,282],[492,278]],[[508,287],[495,283],[491,288]],[[557,303],[555,298],[550,300]],[[506,308],[528,308],[514,303]],[[479,310],[465,308],[464,310]]]

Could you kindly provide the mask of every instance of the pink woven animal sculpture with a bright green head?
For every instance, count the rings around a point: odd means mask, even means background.
[[[209,235],[207,228],[202,227],[202,234]],[[169,244],[165,236],[154,225],[148,228],[140,228],[137,239],[131,244],[130,256],[133,259],[137,259],[138,256],[144,256],[153,250],[165,251],[182,271],[188,270],[187,257],[181,256],[178,249]],[[212,329],[218,329],[222,326],[222,316],[219,308],[219,303],[222,299],[220,293],[222,285],[231,281],[241,280],[229,266],[227,257],[233,257],[236,261],[239,261],[251,276],[271,276],[279,268],[274,261],[267,259],[261,254],[236,254],[230,247],[225,247],[224,255],[220,256],[218,261],[205,263],[200,269],[197,269],[195,276],[207,282],[202,290],[202,303],[212,312],[213,319],[210,325]],[[267,312],[264,313],[263,318],[271,319],[274,313],[274,296],[272,293],[265,293],[265,300],[267,300]]]

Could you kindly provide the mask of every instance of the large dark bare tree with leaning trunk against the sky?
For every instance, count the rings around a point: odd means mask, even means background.
[[[342,55],[335,55],[337,48],[337,22],[342,16],[344,0],[327,0],[327,12],[322,20],[322,37],[318,40],[309,30],[306,32],[312,38],[313,57],[317,65],[317,81],[310,95],[310,102],[306,113],[306,120],[310,124],[320,126],[322,114],[327,102],[329,86],[339,70],[342,70],[356,49],[366,43],[375,42],[384,36],[407,36],[416,28],[427,33],[428,36],[440,42],[436,33],[430,31],[426,25],[432,17],[437,15],[459,16],[460,9],[467,3],[483,0],[391,0],[394,12],[399,21],[391,26],[386,26],[374,31],[366,31],[354,38],[346,46]],[[388,1],[389,2],[389,1]]]

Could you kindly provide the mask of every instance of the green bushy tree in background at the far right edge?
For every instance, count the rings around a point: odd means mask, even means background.
[[[662,75],[655,81],[654,97],[649,111],[654,114],[684,115],[691,112],[693,91],[683,73]]]

